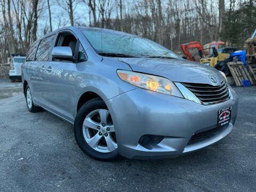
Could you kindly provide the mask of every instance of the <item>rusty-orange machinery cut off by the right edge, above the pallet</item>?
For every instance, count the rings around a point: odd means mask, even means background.
[[[256,29],[252,34],[252,37],[246,41],[246,57],[249,63],[256,63]]]

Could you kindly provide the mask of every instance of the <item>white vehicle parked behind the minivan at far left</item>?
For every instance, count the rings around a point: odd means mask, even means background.
[[[25,63],[26,60],[25,54],[12,54],[11,58],[11,70],[9,71],[9,78],[11,82],[15,80],[21,80],[21,65]]]

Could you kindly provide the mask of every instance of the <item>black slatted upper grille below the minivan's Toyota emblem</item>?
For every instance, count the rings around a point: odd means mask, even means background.
[[[182,83],[203,102],[216,102],[229,97],[228,84],[225,80],[219,86],[197,83]]]

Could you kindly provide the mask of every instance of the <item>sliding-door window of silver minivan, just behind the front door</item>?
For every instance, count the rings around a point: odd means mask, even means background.
[[[50,58],[50,49],[55,35],[51,35],[41,40],[36,51],[36,61],[48,61]]]

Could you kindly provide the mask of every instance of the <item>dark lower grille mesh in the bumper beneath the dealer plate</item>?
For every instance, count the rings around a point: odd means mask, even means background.
[[[228,127],[228,125],[219,126],[219,127],[215,127],[214,129],[211,129],[211,130],[208,130],[208,131],[196,133],[190,138],[187,145],[192,145],[194,143],[201,142],[201,141],[204,141],[206,139],[209,139],[209,138],[213,137],[214,135],[217,135],[217,134],[221,133],[227,127]]]

